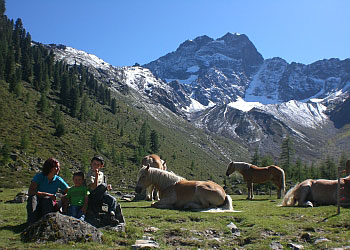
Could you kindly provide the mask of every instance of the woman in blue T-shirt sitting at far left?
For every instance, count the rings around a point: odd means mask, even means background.
[[[27,223],[33,224],[45,214],[54,212],[58,189],[66,193],[68,184],[58,176],[60,163],[55,158],[45,161],[42,172],[30,183],[27,200]]]

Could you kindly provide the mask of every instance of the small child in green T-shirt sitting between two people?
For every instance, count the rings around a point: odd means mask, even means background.
[[[68,215],[84,220],[88,206],[89,190],[84,184],[84,173],[73,174],[74,186],[68,189],[67,200],[69,204]]]

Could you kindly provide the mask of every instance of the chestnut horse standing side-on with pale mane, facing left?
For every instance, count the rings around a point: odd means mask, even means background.
[[[278,199],[282,197],[282,191],[285,192],[285,174],[283,169],[278,166],[272,165],[268,167],[257,167],[246,162],[231,162],[227,167],[226,176],[229,176],[235,171],[238,171],[243,176],[244,181],[247,182],[248,200],[252,200],[254,198],[253,183],[265,183],[272,181],[278,188]]]

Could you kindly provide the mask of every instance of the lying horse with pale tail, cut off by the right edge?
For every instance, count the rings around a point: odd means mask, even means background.
[[[282,206],[313,207],[316,205],[337,204],[338,180],[308,179],[293,188],[284,196]],[[350,202],[350,177],[340,179],[340,204]]]

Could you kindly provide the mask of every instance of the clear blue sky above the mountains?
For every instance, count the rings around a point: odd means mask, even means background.
[[[5,14],[34,41],[128,66],[227,32],[246,34],[265,59],[350,58],[349,11],[348,0],[6,0]]]

